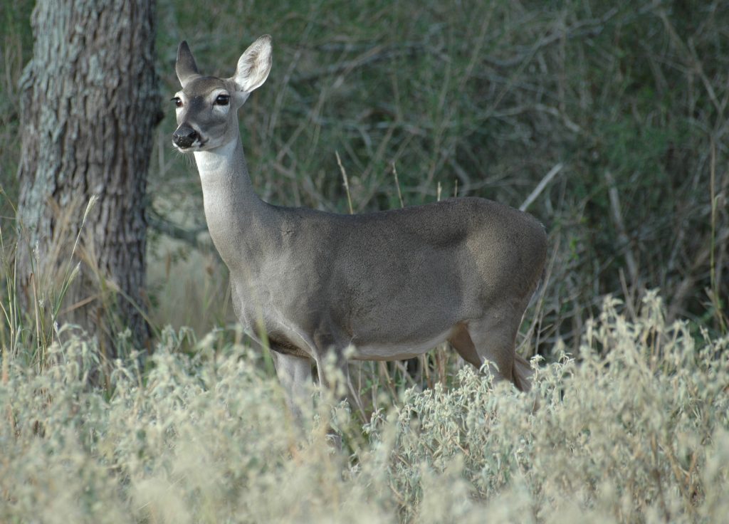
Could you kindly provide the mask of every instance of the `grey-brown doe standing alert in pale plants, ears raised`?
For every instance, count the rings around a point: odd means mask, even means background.
[[[195,157],[235,316],[270,349],[289,409],[307,396],[312,360],[328,386],[328,356],[346,375],[350,359],[410,359],[445,341],[494,380],[529,391],[533,370],[515,343],[545,267],[545,228],[483,198],[364,214],[259,198],[238,109],[268,78],[271,42],[260,36],[230,78],[203,76],[179,44],[172,142]]]

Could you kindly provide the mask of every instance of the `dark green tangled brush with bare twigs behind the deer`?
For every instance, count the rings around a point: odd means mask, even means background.
[[[599,296],[635,302],[652,287],[671,318],[725,329],[725,2],[219,6],[225,16],[160,7],[160,20],[174,21],[160,24],[164,89],[177,89],[181,39],[203,71],[228,75],[249,42],[273,35],[273,71],[241,111],[266,200],[348,212],[337,153],[355,211],[399,206],[394,168],[406,205],[457,192],[519,206],[562,163],[529,208],[555,249],[531,313],[545,326],[540,340],[576,349]],[[152,208],[202,224],[194,169],[165,153],[171,114]]]

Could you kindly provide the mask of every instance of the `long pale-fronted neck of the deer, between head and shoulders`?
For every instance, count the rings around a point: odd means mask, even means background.
[[[231,271],[250,264],[275,224],[273,208],[254,192],[241,139],[210,151],[195,152],[208,230]]]

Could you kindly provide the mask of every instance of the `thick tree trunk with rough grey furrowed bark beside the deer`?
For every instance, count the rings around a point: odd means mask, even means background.
[[[154,11],[149,0],[39,1],[33,58],[20,81],[21,288],[28,304],[42,303],[43,276],[66,276],[86,204],[97,195],[74,255],[80,273],[58,321],[80,324],[102,342],[120,327],[109,318],[129,326],[137,344],[149,335],[137,308],[144,304],[147,168],[160,120]],[[108,353],[116,354],[113,344]]]

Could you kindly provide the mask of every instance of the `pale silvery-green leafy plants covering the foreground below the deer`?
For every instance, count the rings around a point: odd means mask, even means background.
[[[303,434],[243,345],[216,351],[211,334],[189,354],[168,329],[147,372],[116,361],[101,390],[98,348],[63,328],[47,369],[3,353],[0,520],[718,522],[729,339],[667,323],[656,294],[634,321],[619,306],[577,359],[539,369],[532,396],[462,369],[364,427],[321,402]]]

